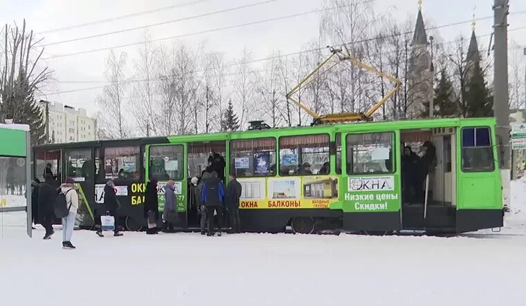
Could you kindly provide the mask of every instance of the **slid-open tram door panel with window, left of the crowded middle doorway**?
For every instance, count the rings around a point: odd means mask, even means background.
[[[155,144],[145,146],[146,183],[156,179],[159,206],[159,221],[162,220],[165,204],[165,185],[174,180],[176,195],[177,218],[173,220],[176,229],[187,227],[187,188],[188,176],[185,171],[184,156],[187,152],[186,144]],[[161,226],[159,222],[158,226]]]

